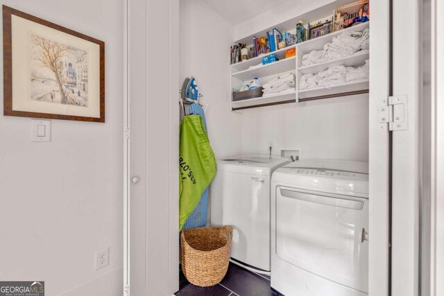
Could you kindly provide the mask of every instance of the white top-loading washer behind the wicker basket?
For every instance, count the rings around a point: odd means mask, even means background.
[[[231,225],[231,257],[270,270],[271,173],[288,159],[241,155],[217,162],[211,186],[211,224]]]

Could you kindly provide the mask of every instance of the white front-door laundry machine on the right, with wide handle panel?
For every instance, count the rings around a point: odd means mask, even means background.
[[[307,160],[271,180],[271,287],[368,295],[368,164]]]

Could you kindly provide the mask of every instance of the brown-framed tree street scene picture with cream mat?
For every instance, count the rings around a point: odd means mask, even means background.
[[[105,43],[3,6],[3,114],[105,122]]]

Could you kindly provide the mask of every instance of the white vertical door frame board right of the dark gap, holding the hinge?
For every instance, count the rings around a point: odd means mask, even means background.
[[[393,105],[391,292],[393,296],[418,295],[418,216],[420,192],[419,82],[420,0],[393,0]],[[410,28],[405,28],[409,19]],[[406,46],[406,42],[409,46]],[[395,128],[398,123],[395,123]]]

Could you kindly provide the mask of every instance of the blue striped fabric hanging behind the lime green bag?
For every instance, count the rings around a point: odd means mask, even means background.
[[[207,122],[205,121],[205,113],[203,109],[198,104],[191,104],[189,106],[189,115],[200,115],[202,117],[203,125],[205,126],[205,131],[207,131]],[[207,224],[207,201],[208,201],[208,189],[203,191],[200,197],[199,203],[197,204],[194,211],[189,216],[187,222],[183,226],[184,229],[204,227]]]

